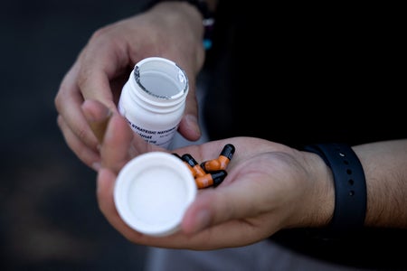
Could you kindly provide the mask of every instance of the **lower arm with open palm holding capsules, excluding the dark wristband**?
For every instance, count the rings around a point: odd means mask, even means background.
[[[116,131],[116,133],[109,133]],[[121,131],[121,133],[118,133]],[[225,144],[236,147],[228,175],[214,189],[201,190],[173,236],[152,238],[129,229],[113,203],[119,169],[151,150],[112,117],[98,175],[100,210],[118,231],[137,244],[165,248],[213,249],[249,245],[279,229],[323,228],[333,215],[335,192],[327,164],[317,155],[252,137],[234,137],[175,150],[206,161]],[[125,144],[127,142],[127,144]],[[120,145],[120,149],[118,149]],[[130,150],[130,151],[128,151]],[[354,146],[364,167],[367,212],[364,226],[407,228],[407,140]],[[114,157],[114,159],[112,158]]]

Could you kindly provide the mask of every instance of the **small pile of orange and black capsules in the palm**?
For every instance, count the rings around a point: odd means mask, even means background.
[[[218,158],[205,161],[201,164],[198,164],[191,154],[184,154],[182,156],[178,154],[174,155],[185,162],[194,176],[196,185],[201,189],[217,186],[223,181],[227,175],[226,166],[231,162],[234,150],[234,145],[224,145]]]

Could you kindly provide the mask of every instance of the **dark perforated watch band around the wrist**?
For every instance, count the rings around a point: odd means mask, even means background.
[[[348,232],[364,226],[366,182],[364,169],[349,145],[307,145],[305,151],[318,154],[331,168],[335,182],[335,210],[330,228]]]

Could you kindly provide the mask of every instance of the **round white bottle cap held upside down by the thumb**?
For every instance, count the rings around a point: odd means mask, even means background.
[[[114,201],[128,226],[151,236],[179,229],[197,186],[187,165],[174,154],[140,154],[118,173]]]

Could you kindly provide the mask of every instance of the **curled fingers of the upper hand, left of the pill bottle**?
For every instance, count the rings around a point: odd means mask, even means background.
[[[103,102],[111,111],[117,110],[109,86],[109,78],[115,75],[114,65],[117,61],[106,50],[106,47],[102,47],[99,51],[91,44],[85,47],[62,79],[54,100],[60,114],[58,125],[67,144],[83,163],[94,169],[98,169],[100,163],[99,142],[83,115],[81,105],[85,98],[93,98]]]

